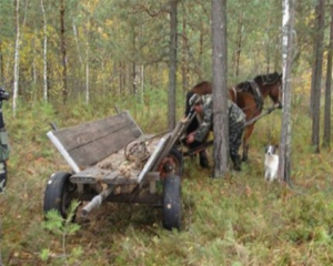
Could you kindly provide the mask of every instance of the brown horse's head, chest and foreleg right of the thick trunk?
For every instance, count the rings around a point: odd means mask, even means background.
[[[246,115],[246,129],[243,135],[242,156],[244,162],[249,158],[249,139],[253,132],[256,120],[263,111],[264,99],[270,96],[274,103],[273,109],[269,109],[268,113],[274,110],[274,108],[282,108],[281,86],[282,74],[274,72],[265,75],[258,75],[253,81],[245,81],[229,89],[230,99],[235,102]]]

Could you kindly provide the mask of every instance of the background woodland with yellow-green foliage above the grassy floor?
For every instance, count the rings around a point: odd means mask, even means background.
[[[168,88],[168,1],[18,2],[17,14],[12,1],[1,4],[0,78],[2,86],[12,90],[17,52],[22,104],[46,98],[57,104],[131,94],[149,102],[151,90]],[[302,20],[295,25],[294,73],[296,88],[306,88],[315,40],[314,3],[302,1],[296,9]],[[228,3],[230,85],[281,72],[281,1]],[[180,92],[211,79],[210,12],[210,2],[178,4]]]

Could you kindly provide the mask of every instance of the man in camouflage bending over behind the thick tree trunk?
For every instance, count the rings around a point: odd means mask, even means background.
[[[194,105],[195,112],[203,115],[203,120],[196,131],[188,135],[188,144],[202,142],[209,131],[213,131],[213,100],[212,94],[201,96],[202,101]],[[233,168],[241,171],[241,156],[239,149],[242,143],[242,135],[245,127],[245,114],[232,101],[228,100],[229,109],[229,152],[233,162]]]

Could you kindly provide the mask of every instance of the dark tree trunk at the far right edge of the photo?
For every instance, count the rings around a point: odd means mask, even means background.
[[[331,3],[331,29],[330,29],[330,44],[329,44],[326,84],[325,84],[323,147],[330,147],[330,142],[331,142],[332,53],[333,53],[333,3]]]

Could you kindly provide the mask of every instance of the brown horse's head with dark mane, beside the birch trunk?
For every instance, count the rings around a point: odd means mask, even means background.
[[[274,105],[282,109],[282,74],[274,72],[265,75],[258,75],[254,78],[254,82],[260,88],[263,98],[269,95]]]

